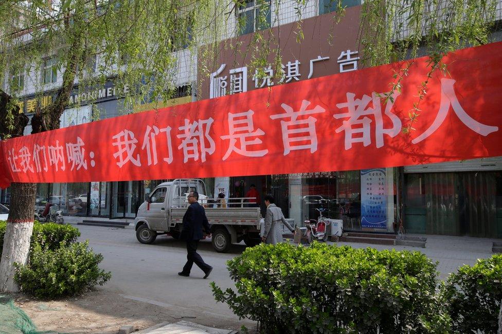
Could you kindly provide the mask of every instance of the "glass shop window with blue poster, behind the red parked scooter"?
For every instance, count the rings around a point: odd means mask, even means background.
[[[289,198],[289,217],[297,225],[317,220],[322,211],[324,217],[343,220],[346,231],[392,229],[395,191],[391,168],[290,174],[287,179],[287,196],[284,188],[279,197]],[[274,180],[273,176],[273,187]]]

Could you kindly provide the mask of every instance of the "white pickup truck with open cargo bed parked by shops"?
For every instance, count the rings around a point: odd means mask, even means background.
[[[136,237],[142,244],[151,244],[157,235],[180,237],[183,215],[188,207],[187,195],[199,193],[199,203],[206,207],[211,225],[212,246],[218,252],[226,252],[231,244],[244,243],[255,246],[260,243],[260,208],[244,208],[245,198],[234,199],[236,208],[218,208],[206,196],[206,186],[200,179],[176,179],[161,183],[141,204],[135,219]],[[214,199],[217,200],[217,199]],[[227,203],[228,205],[228,203]]]

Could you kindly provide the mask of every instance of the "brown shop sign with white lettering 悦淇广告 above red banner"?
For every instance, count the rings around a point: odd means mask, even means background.
[[[301,43],[295,38],[296,22],[221,42],[218,53],[199,64],[198,80],[202,84],[198,98],[241,94],[359,69],[362,57],[357,49],[360,7],[347,8],[336,25],[332,13],[303,20],[301,29],[306,38]],[[250,66],[253,59],[262,60],[263,57],[263,48],[252,42],[257,33],[263,34],[260,40],[267,41],[271,50],[266,65],[260,69]],[[273,65],[277,64],[277,52],[273,51],[277,49],[281,64]]]

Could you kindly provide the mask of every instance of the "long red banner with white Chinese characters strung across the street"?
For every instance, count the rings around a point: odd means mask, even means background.
[[[342,171],[502,156],[502,43],[427,59],[385,101],[394,63],[2,142],[10,182],[87,182]]]

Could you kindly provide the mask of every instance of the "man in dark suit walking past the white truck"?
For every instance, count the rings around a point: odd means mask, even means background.
[[[204,231],[206,234],[210,235],[211,230],[206,218],[206,212],[199,204],[198,200],[198,192],[192,191],[188,194],[190,206],[183,216],[183,230],[180,234],[180,239],[186,240],[187,242],[187,263],[183,267],[183,270],[178,272],[178,275],[190,276],[190,270],[192,269],[193,263],[195,263],[204,271],[204,278],[207,279],[211,273],[212,267],[205,263],[201,255],[197,253],[197,247],[199,246],[199,240],[204,238]]]

